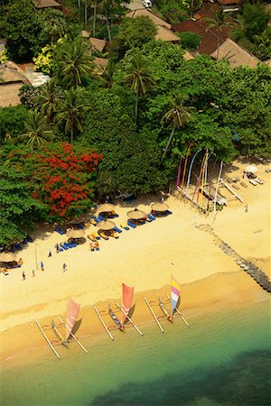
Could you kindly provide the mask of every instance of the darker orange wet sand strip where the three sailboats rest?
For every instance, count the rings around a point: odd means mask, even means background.
[[[152,291],[140,291],[135,293],[135,313],[132,316],[136,326],[140,329],[148,325],[152,325],[152,328],[157,329],[157,334],[161,334],[154,322],[154,318],[151,315],[149,309],[145,305],[144,297],[148,300],[157,300],[159,294],[165,299],[166,293],[170,293],[170,286],[166,285],[160,290]],[[109,299],[107,301],[98,301],[96,306],[99,310],[107,309],[107,303],[119,302],[120,298],[116,300]],[[264,301],[270,301],[268,293],[263,291],[245,272],[226,272],[216,273],[200,281],[193,281],[182,285],[181,291],[181,305],[179,309],[182,310],[185,318],[203,318],[208,315],[217,313],[222,309],[235,306],[248,306],[253,303],[259,303]],[[169,305],[167,305],[169,306]],[[115,307],[115,306],[114,306]],[[154,311],[157,316],[161,316],[159,309],[154,305]],[[61,318],[65,317],[62,313]],[[55,316],[56,318],[56,316]],[[102,327],[98,317],[93,309],[93,306],[84,306],[80,309],[79,318],[82,318],[79,331],[76,336],[84,345],[84,339],[93,338],[94,342],[99,341],[99,337],[107,339],[107,333]],[[106,324],[109,323],[109,316],[103,316]],[[164,326],[165,333],[167,327],[167,320],[160,320]],[[43,324],[49,324],[51,317],[42,318],[39,322]],[[132,328],[132,327],[130,327]],[[127,328],[128,330],[130,328]],[[53,338],[51,331],[46,332],[48,337]],[[129,331],[126,331],[128,334]],[[117,335],[120,334],[117,330],[112,331],[112,335],[117,340]],[[9,364],[14,359],[18,359],[22,356],[22,361],[25,362],[24,354],[29,353],[31,350],[37,350],[38,352],[44,352],[44,356],[55,356],[51,352],[51,348],[46,344],[41,332],[35,325],[34,320],[30,320],[27,324],[15,326],[9,328],[1,333],[1,352],[0,363],[5,365]],[[59,348],[59,347],[58,347]],[[73,350],[73,348],[72,348]]]

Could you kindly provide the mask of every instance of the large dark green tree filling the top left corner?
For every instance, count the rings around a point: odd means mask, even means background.
[[[42,14],[32,0],[14,0],[5,7],[0,31],[7,40],[7,51],[12,60],[31,58],[46,42]]]

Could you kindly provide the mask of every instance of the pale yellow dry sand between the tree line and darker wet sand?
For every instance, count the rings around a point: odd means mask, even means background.
[[[235,162],[237,164],[237,162]],[[245,163],[238,163],[242,170]],[[190,203],[179,198],[168,199],[173,215],[157,218],[135,230],[123,230],[118,240],[110,238],[100,242],[99,252],[89,251],[88,244],[56,254],[53,246],[64,241],[56,232],[44,232],[19,254],[23,267],[11,271],[1,278],[1,330],[26,323],[33,318],[62,314],[69,297],[82,306],[98,300],[117,298],[121,294],[121,282],[135,285],[135,291],[158,289],[170,282],[173,275],[182,284],[208,277],[216,272],[236,272],[238,265],[214,245],[212,236],[199,230],[195,225],[210,224],[214,231],[238,254],[245,258],[261,259],[266,262],[270,256],[270,188],[271,174],[266,166],[258,165],[258,175],[264,185],[248,189],[240,186],[238,193],[245,199],[244,204],[231,200],[217,217],[199,214]],[[240,176],[238,171],[238,176]],[[229,176],[235,176],[230,172]],[[158,198],[156,198],[157,201]],[[146,201],[146,199],[145,199]],[[120,215],[117,226],[125,222],[126,212],[134,205],[117,207]],[[137,208],[150,211],[150,201],[141,201]],[[248,213],[245,204],[248,203]],[[87,234],[96,230],[91,226]],[[52,257],[48,258],[51,248]],[[38,262],[44,263],[36,277],[32,277],[35,267],[35,250]],[[62,264],[67,263],[68,271],[62,272]],[[260,266],[260,263],[257,263]],[[265,270],[266,270],[265,269]],[[22,281],[22,272],[26,280]],[[249,278],[249,276],[248,276]]]

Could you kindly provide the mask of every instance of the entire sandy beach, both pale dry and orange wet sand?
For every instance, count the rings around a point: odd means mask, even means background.
[[[247,164],[234,162],[226,169],[225,176],[238,176],[242,181],[241,174]],[[263,185],[253,186],[246,180],[248,188],[244,188],[237,183],[244,203],[230,199],[228,206],[216,216],[203,215],[180,196],[171,196],[167,203],[173,215],[157,218],[135,230],[123,230],[117,240],[102,240],[99,252],[89,251],[87,239],[87,244],[56,254],[54,245],[65,241],[67,235],[57,234],[53,227],[35,230],[33,243],[19,253],[23,258],[22,268],[9,272],[8,276],[0,275],[1,360],[27,346],[45,346],[33,319],[46,324],[52,316],[64,317],[69,297],[81,304],[79,336],[101,333],[93,305],[98,303],[99,309],[106,309],[107,303],[120,300],[122,282],[135,286],[138,325],[152,318],[144,296],[157,299],[161,291],[165,296],[171,273],[182,284],[181,306],[188,316],[199,309],[211,311],[235,303],[269,300],[266,291],[220,250],[213,235],[198,227],[211,226],[239,255],[269,272],[270,277],[271,175],[266,173],[266,165],[257,165],[257,168]],[[158,201],[158,197],[117,206],[117,226],[125,222],[128,209],[137,207],[148,213],[154,201]],[[94,231],[96,227],[90,226],[86,235]],[[39,267],[32,277],[36,262],[41,261],[44,272]],[[67,272],[62,272],[63,263],[68,265]],[[22,281],[23,271],[25,281]]]

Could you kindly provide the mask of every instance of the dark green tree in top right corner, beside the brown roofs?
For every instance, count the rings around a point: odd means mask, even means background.
[[[263,5],[246,4],[243,10],[244,32],[248,40],[253,41],[254,35],[260,35],[266,30],[270,19]]]

